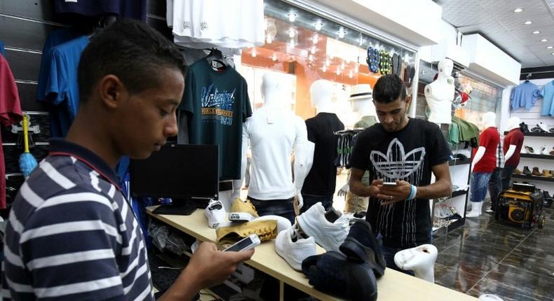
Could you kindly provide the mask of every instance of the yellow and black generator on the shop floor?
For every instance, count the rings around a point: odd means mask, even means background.
[[[518,188],[515,188],[518,189]],[[543,193],[534,191],[504,190],[499,195],[496,207],[496,221],[508,221],[521,225],[522,228],[532,228],[537,225],[543,228],[546,218],[543,212]]]

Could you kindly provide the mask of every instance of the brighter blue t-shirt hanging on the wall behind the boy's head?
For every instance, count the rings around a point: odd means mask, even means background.
[[[48,102],[58,106],[58,123],[53,124],[53,137],[65,137],[79,109],[77,67],[81,53],[88,45],[88,37],[80,36],[50,49],[50,76],[46,83]]]

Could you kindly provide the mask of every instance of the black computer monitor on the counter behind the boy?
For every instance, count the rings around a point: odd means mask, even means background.
[[[170,197],[156,214],[191,214],[219,194],[219,146],[168,144],[144,160],[130,162],[134,197]]]

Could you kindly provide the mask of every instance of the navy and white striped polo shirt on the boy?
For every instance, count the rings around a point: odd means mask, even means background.
[[[142,230],[114,171],[50,141],[6,227],[4,300],[154,300]]]

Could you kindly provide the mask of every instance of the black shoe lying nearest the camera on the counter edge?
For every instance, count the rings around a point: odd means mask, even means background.
[[[353,262],[338,251],[304,259],[302,272],[323,293],[347,300],[377,300],[377,279],[371,267],[366,262]]]

